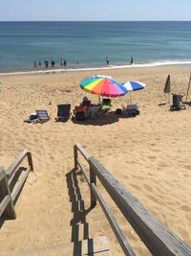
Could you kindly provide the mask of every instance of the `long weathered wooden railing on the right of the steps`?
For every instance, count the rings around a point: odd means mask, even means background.
[[[78,159],[78,151],[89,164],[87,175],[85,169]],[[74,145],[74,168],[82,171],[91,190],[91,206],[99,202],[107,220],[117,237],[125,255],[136,255],[131,245],[123,235],[113,213],[106,202],[98,192],[96,187],[96,177],[99,179],[110,197],[117,204],[119,211],[137,232],[139,238],[147,246],[150,252],[156,256],[170,255],[191,255],[191,249],[171,231],[169,231],[161,222],[159,222],[143,205],[138,202],[130,192],[127,191],[117,179],[114,178],[97,160],[85,151],[79,144]]]

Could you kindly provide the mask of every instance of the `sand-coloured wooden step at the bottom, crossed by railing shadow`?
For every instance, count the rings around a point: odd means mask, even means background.
[[[11,254],[9,254],[11,255]],[[77,241],[70,244],[48,246],[28,251],[21,251],[14,256],[82,256],[97,255],[111,256],[110,248],[105,236]]]

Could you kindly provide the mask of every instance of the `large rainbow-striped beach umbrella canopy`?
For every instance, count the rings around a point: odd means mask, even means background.
[[[80,87],[86,92],[104,97],[119,97],[127,93],[122,83],[107,76],[94,76],[80,82]]]

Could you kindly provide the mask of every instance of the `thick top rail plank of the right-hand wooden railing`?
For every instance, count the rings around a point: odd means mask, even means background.
[[[89,159],[89,163],[117,207],[153,255],[191,255],[191,249],[149,213],[94,157]]]

